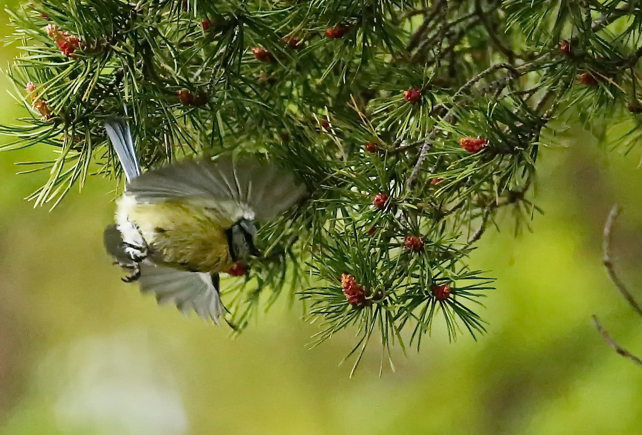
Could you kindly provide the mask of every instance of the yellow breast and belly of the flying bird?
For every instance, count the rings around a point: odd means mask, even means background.
[[[225,230],[234,225],[213,210],[177,201],[135,203],[127,219],[138,226],[145,241],[180,268],[218,273],[232,266]]]

